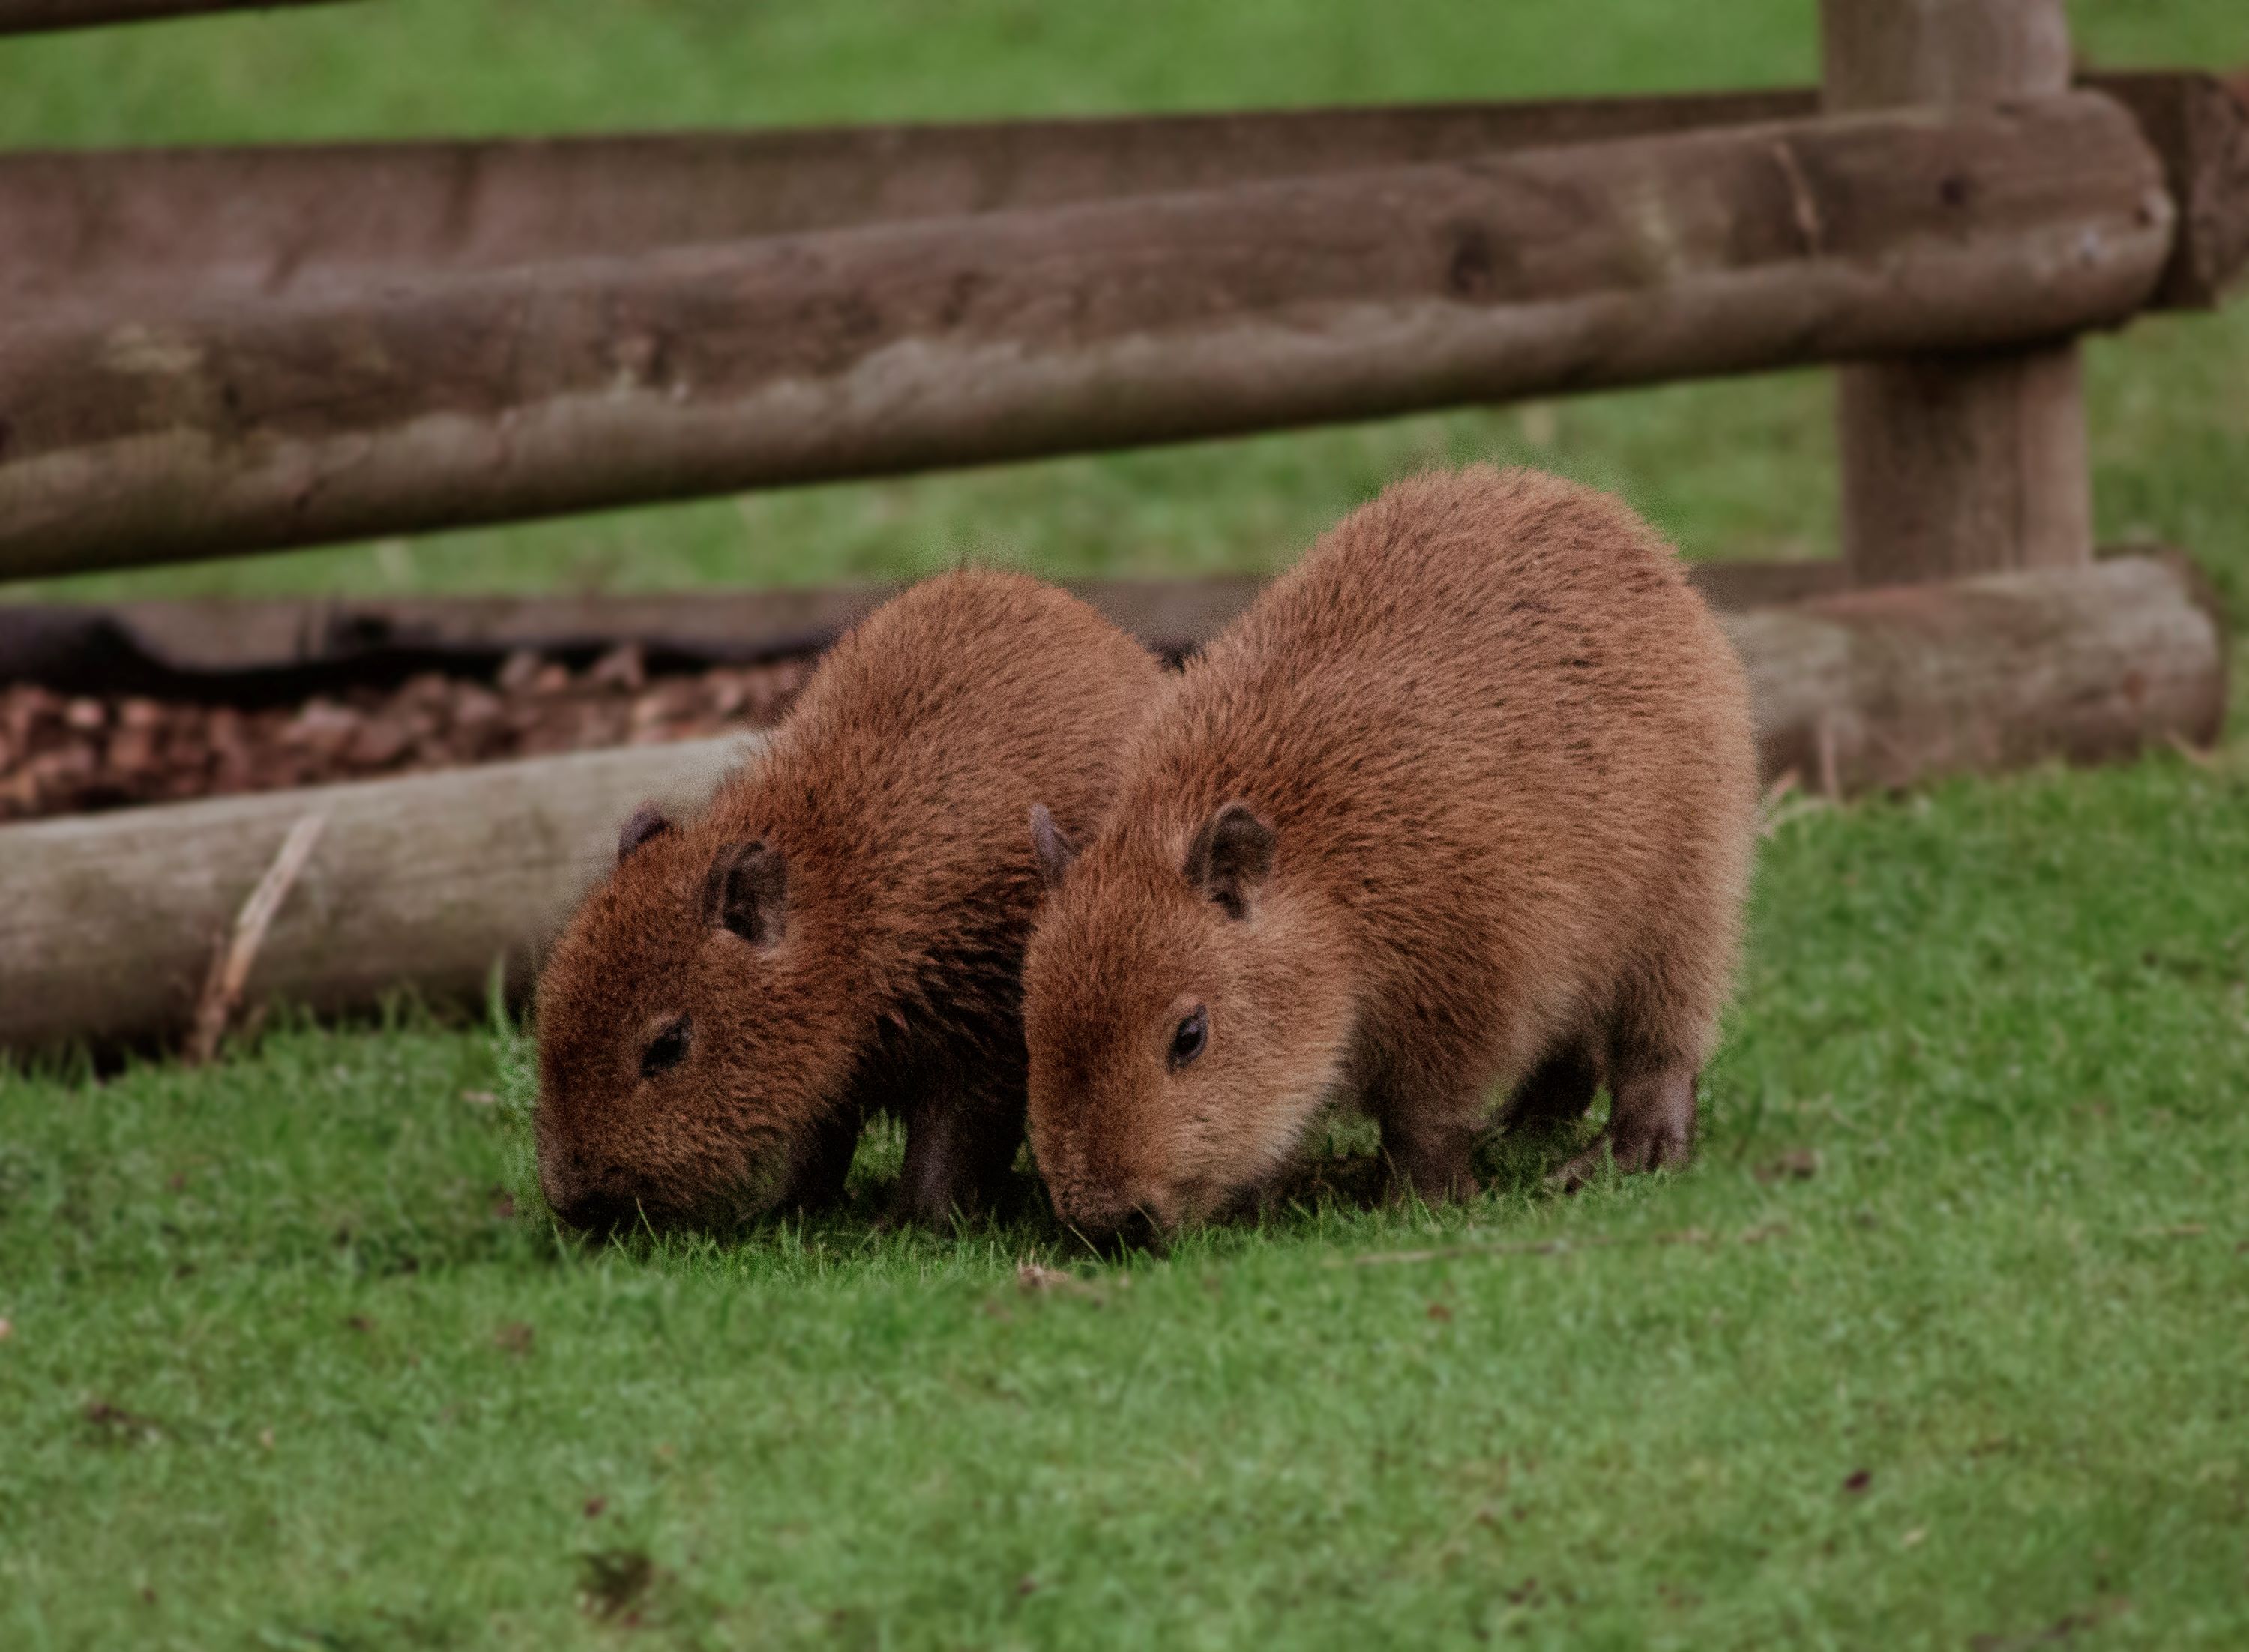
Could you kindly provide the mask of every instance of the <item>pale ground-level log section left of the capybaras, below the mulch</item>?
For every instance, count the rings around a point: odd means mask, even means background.
[[[695,809],[742,739],[533,757],[0,827],[0,1047],[178,1036],[218,942],[295,825],[326,816],[250,969],[245,1005],[319,1011],[414,984],[522,991],[654,798]]]

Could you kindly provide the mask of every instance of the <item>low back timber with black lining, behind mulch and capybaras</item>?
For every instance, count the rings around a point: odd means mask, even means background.
[[[1840,562],[1696,562],[1689,578],[1716,607],[1795,602],[1846,584]],[[1066,580],[1068,589],[1149,647],[1181,652],[1219,634],[1264,580]],[[187,598],[74,607],[0,607],[0,681],[70,695],[256,699],[333,692],[412,670],[475,672],[513,650],[603,654],[639,643],[657,659],[751,663],[805,654],[873,614],[895,584],[621,596]],[[259,683],[241,681],[256,677]],[[265,681],[288,679],[288,681]]]

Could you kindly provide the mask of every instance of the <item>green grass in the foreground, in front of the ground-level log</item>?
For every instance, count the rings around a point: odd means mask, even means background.
[[[18,1079],[0,1639],[2240,1645],[2245,863],[2240,755],[1799,818],[1693,1171],[1082,1292],[556,1243],[504,1034]]]

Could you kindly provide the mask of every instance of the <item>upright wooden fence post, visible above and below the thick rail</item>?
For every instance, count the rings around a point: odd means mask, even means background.
[[[1822,0],[1831,112],[2069,90],[2062,0]],[[1975,211],[1966,178],[1945,180]],[[1844,366],[1842,551],[1860,584],[2092,560],[2078,346]]]

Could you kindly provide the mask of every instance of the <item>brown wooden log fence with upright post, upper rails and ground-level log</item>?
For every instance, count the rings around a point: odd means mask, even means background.
[[[211,9],[0,0],[0,34]],[[0,157],[0,578],[1833,362],[1817,582],[1862,589],[1729,620],[1768,769],[2211,739],[2215,605],[2175,560],[2094,562],[2076,337],[2249,263],[2249,110],[2206,74],[2074,81],[2060,0],[1824,0],[1822,27],[1815,90]],[[630,800],[600,764],[0,829],[0,1043],[175,1027],[180,960],[288,818],[603,816]],[[304,919],[423,913],[405,845],[328,834]],[[425,980],[529,957],[569,865],[430,917]],[[169,917],[72,948],[88,901]],[[416,973],[290,922],[265,984]]]

